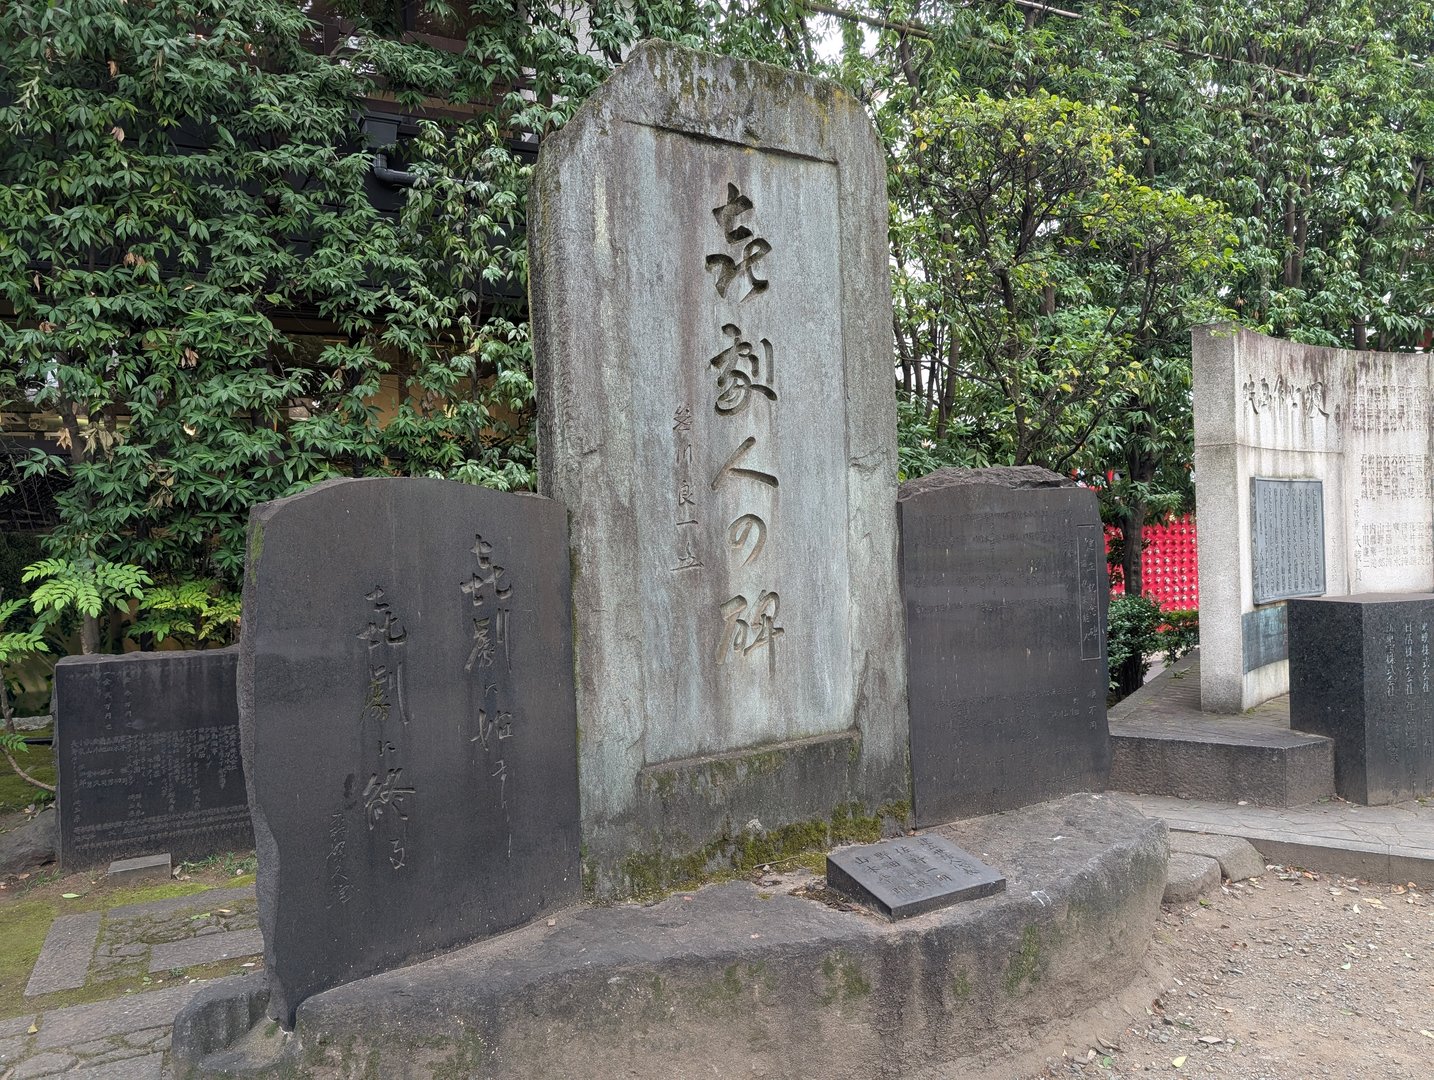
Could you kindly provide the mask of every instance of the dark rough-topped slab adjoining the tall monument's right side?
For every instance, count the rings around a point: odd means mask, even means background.
[[[1104,790],[1104,536],[1094,492],[1044,469],[902,485],[918,825]]]

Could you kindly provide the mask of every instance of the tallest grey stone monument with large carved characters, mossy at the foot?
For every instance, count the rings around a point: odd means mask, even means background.
[[[543,143],[529,238],[598,891],[853,803],[903,816],[886,186],[860,103],[640,46]]]

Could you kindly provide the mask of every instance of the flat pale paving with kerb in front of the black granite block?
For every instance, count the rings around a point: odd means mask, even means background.
[[[1371,881],[1434,885],[1434,806],[1238,806],[1154,795],[1114,795],[1172,829],[1243,836],[1271,862]]]

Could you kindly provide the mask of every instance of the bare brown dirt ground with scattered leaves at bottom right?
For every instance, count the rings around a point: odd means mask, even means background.
[[[1150,967],[1163,991],[1133,1017],[1088,1018],[1064,1056],[1021,1080],[1434,1077],[1425,892],[1276,869],[1205,904],[1162,912]]]

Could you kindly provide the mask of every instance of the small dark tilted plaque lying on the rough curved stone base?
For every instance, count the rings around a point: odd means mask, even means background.
[[[1005,891],[1005,876],[944,836],[840,848],[826,856],[826,884],[889,919]]]

